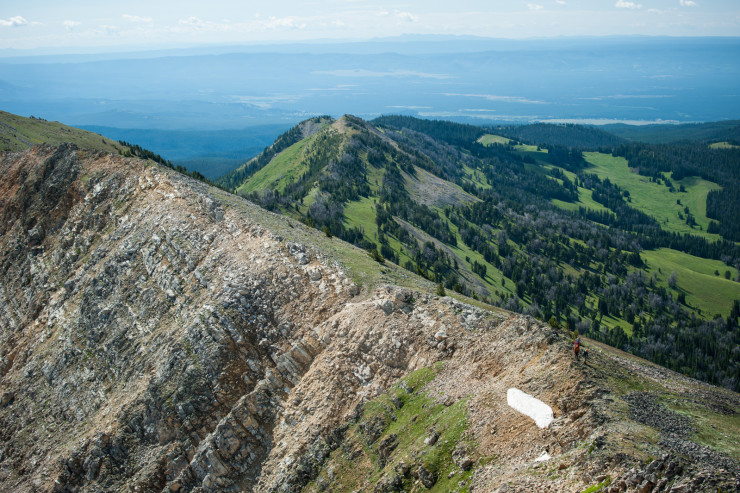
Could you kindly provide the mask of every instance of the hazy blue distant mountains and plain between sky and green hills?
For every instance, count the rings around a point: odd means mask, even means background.
[[[219,130],[319,114],[466,122],[740,114],[738,38],[379,39],[0,58],[0,107],[73,125]]]

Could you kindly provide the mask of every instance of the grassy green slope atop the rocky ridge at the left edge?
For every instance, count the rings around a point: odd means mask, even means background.
[[[36,144],[59,145],[64,142],[116,154],[124,149],[118,142],[87,130],[0,111],[0,151],[19,151]]]

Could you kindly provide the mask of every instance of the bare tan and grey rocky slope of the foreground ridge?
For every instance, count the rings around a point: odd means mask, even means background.
[[[584,366],[527,317],[361,289],[265,225],[284,218],[172,170],[73,146],[1,159],[0,490],[299,491],[363,403],[440,361],[428,394],[469,400],[466,488],[736,486],[731,457],[630,418],[644,399],[609,382],[642,371],[634,358],[594,346]],[[654,385],[699,385],[650,368]],[[508,408],[511,387],[555,422]],[[737,414],[736,394],[703,388]],[[648,428],[665,436],[621,445]]]

